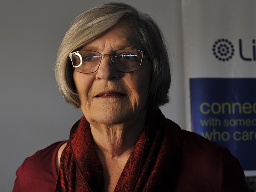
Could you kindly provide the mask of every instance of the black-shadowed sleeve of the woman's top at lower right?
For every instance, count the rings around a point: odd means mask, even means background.
[[[245,181],[245,174],[236,157],[225,148],[223,158],[221,192],[250,192]]]

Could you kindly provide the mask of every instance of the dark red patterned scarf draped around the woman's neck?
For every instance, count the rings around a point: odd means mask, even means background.
[[[181,131],[158,109],[147,116],[115,192],[172,191],[181,151]],[[70,131],[60,159],[56,191],[103,191],[103,168],[95,152],[89,123],[83,116]]]

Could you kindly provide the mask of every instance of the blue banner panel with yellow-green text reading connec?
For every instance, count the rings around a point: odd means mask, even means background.
[[[191,128],[256,170],[256,78],[190,78]]]

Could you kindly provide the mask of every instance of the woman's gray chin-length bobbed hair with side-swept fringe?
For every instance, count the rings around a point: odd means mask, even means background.
[[[59,46],[55,77],[61,96],[74,107],[80,107],[80,99],[74,85],[74,69],[69,53],[79,50],[106,33],[124,18],[134,23],[137,41],[141,43],[152,65],[148,110],[152,111],[169,102],[168,92],[171,85],[169,57],[158,25],[148,14],[141,13],[128,4],[107,3],[95,6],[76,17]]]

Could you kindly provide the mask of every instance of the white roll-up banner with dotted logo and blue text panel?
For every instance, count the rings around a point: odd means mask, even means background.
[[[256,0],[182,0],[187,129],[256,175]]]

